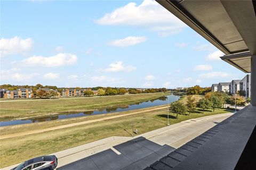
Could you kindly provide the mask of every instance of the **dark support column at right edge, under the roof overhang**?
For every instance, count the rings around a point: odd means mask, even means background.
[[[256,55],[251,58],[251,104],[256,106]]]

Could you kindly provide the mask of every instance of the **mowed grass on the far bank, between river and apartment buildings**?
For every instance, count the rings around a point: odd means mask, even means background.
[[[32,116],[85,112],[94,109],[123,106],[167,95],[161,92],[123,96],[80,97],[62,99],[28,99],[0,101],[0,121]]]

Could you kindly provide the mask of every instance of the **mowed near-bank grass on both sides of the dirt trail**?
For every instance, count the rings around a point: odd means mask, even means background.
[[[138,109],[135,111],[140,111]],[[131,113],[135,111],[127,111],[119,114]],[[0,140],[0,167],[13,165],[40,155],[51,154],[60,150],[68,149],[71,147],[83,145],[95,140],[116,136],[131,136],[132,123],[134,128],[138,128],[139,133],[142,134],[155,129],[163,128],[166,126],[167,116],[166,109],[159,109],[157,111],[149,111],[130,116],[113,118],[111,120],[100,121],[90,124],[77,125],[71,128],[64,128],[60,130],[53,130],[43,133],[36,133],[25,135],[22,137],[14,137],[9,139]],[[191,115],[179,115],[178,119],[175,114],[170,114],[170,124],[178,123],[181,121],[189,120],[190,118],[208,116],[213,114],[227,113],[225,109],[216,109],[215,112],[205,111],[191,113]],[[100,118],[105,115],[95,115]],[[93,118],[94,116],[89,116]],[[79,119],[81,120],[81,118]],[[27,125],[18,125],[1,128],[2,134],[17,133],[17,131],[26,131],[38,127],[57,126],[66,124],[70,120],[56,120],[51,122],[41,122]],[[72,122],[75,122],[73,119]],[[24,127],[24,128],[22,128]],[[128,132],[126,132],[127,130]]]

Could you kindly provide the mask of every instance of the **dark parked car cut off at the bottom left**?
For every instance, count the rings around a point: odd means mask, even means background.
[[[11,170],[53,170],[57,165],[57,157],[55,155],[50,155],[27,160]]]

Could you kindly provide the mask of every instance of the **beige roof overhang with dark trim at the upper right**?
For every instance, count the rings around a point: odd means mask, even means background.
[[[255,1],[156,1],[225,53],[222,60],[251,72],[250,58],[256,54]]]

